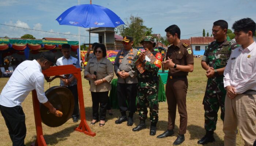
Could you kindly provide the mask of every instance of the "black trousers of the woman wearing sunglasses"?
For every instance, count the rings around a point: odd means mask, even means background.
[[[109,92],[91,92],[93,101],[93,119],[105,120],[108,105]],[[99,113],[98,113],[99,110]]]

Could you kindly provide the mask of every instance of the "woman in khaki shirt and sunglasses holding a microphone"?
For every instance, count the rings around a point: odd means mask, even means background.
[[[90,91],[93,101],[93,120],[91,124],[95,124],[100,120],[99,126],[104,126],[109,98],[108,93],[111,90],[110,82],[114,77],[114,69],[112,63],[106,58],[105,45],[96,45],[93,54],[95,57],[89,59],[84,69],[84,76],[89,78],[91,82]]]

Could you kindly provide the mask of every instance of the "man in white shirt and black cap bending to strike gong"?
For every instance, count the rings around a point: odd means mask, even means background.
[[[50,68],[55,63],[56,57],[50,51],[42,53],[37,60],[23,61],[14,70],[3,88],[0,95],[0,111],[9,130],[12,145],[24,145],[26,124],[21,103],[30,91],[35,89],[39,102],[49,108],[50,113],[56,112],[45,96],[44,75],[42,74],[42,70]]]

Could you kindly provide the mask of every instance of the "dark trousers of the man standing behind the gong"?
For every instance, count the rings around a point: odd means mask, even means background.
[[[67,87],[74,96],[74,111],[72,114],[72,118],[79,117],[79,104],[78,104],[78,91],[77,91],[77,85]]]

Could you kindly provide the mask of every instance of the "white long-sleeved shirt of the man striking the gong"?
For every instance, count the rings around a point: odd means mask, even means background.
[[[44,75],[42,68],[36,60],[23,61],[14,70],[0,95],[0,105],[15,107],[25,100],[32,90],[37,91],[40,103],[46,103],[48,99],[44,92]]]

